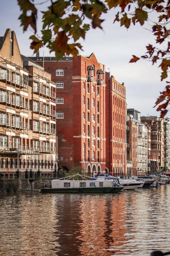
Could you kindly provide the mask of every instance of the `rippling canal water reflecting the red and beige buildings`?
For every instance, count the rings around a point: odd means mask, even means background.
[[[170,184],[118,194],[0,194],[1,256],[170,251]]]

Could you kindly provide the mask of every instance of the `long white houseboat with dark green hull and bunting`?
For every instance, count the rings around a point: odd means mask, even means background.
[[[81,180],[75,180],[75,176]],[[71,178],[71,179],[70,179]],[[88,177],[89,179],[90,177]],[[123,190],[119,180],[86,180],[87,176],[75,174],[66,178],[51,181],[51,188],[41,188],[41,193],[118,193]]]

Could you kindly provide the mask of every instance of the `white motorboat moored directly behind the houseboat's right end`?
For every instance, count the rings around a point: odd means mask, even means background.
[[[143,181],[137,181],[135,179],[132,179],[129,175],[121,175],[119,176],[121,184],[123,185],[123,189],[125,190],[134,190],[138,187],[142,187],[144,182]]]

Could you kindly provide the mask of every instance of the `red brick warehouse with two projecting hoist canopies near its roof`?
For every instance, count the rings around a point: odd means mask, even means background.
[[[105,66],[89,57],[31,57],[56,82],[59,167],[105,171]]]

